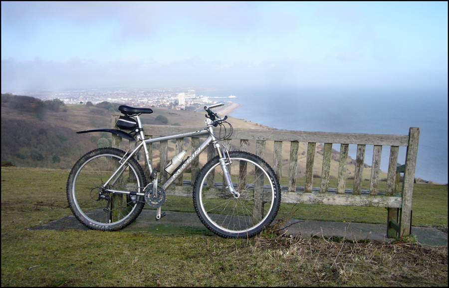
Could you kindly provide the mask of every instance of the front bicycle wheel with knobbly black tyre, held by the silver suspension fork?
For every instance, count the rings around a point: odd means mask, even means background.
[[[276,217],[280,185],[273,169],[258,156],[229,152],[226,166],[238,195],[232,195],[216,156],[200,171],[194,187],[194,206],[203,224],[225,238],[259,234]]]

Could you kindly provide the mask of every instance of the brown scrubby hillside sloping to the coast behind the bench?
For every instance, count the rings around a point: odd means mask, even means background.
[[[100,138],[108,139],[110,133],[76,134],[76,131],[109,128],[112,125],[112,115],[119,114],[116,111],[118,103],[103,102],[95,106],[64,105],[54,100],[42,102],[38,99],[25,96],[10,96],[2,94],[1,98],[1,161],[11,162],[15,166],[47,167],[70,169],[79,157],[84,153],[95,149],[100,144]],[[56,103],[56,104],[55,104]],[[101,108],[100,108],[101,107]],[[170,110],[167,108],[153,108],[154,113],[142,115],[144,124],[157,125],[182,125],[204,126],[204,112]],[[167,120],[163,123],[158,119]],[[250,121],[229,116],[228,122],[234,128],[246,129],[274,129]],[[165,121],[164,121],[165,122]],[[103,139],[104,141],[104,139]],[[248,151],[255,152],[255,141],[249,141]],[[270,143],[271,142],[271,143]],[[186,141],[186,149],[190,142]],[[314,164],[314,174],[321,174],[323,144],[317,143]],[[174,155],[174,143],[169,143],[169,157]],[[239,141],[232,141],[232,149],[238,149]],[[288,175],[288,159],[290,144],[283,144],[283,169],[282,174]],[[190,150],[189,150],[190,151]],[[307,144],[300,143],[298,155],[298,177],[304,177]],[[205,154],[205,153],[203,153]],[[157,149],[153,153],[158,156]],[[157,164],[158,160],[155,160]],[[267,141],[265,160],[273,162],[273,142]],[[338,172],[339,152],[332,151],[331,177],[336,177]],[[205,163],[206,155],[201,158]],[[355,170],[355,160],[348,159],[347,173],[350,178]],[[369,179],[371,167],[365,165],[363,179]],[[381,172],[380,179],[386,178],[386,173]],[[298,184],[299,185],[299,184]]]

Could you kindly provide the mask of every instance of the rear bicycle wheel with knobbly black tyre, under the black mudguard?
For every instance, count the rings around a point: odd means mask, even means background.
[[[81,157],[67,180],[67,201],[75,217],[94,230],[116,231],[125,228],[139,216],[145,203],[138,196],[105,191],[102,185],[120,166],[125,152],[115,148],[99,148]],[[104,188],[141,193],[146,179],[140,164],[131,158],[124,169]]]

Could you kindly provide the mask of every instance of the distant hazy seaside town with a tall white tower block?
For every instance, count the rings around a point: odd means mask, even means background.
[[[133,107],[167,107],[176,110],[193,109],[202,104],[214,102],[205,92],[221,90],[219,88],[159,88],[159,89],[128,89],[128,88],[89,88],[64,90],[27,90],[13,91],[15,95],[26,95],[41,100],[58,98],[66,104],[97,104],[103,101],[121,103]],[[227,98],[235,99],[234,95]]]

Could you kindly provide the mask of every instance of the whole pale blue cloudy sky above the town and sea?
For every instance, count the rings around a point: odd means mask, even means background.
[[[448,88],[448,2],[1,1],[1,92]]]

